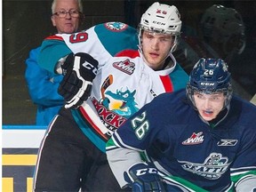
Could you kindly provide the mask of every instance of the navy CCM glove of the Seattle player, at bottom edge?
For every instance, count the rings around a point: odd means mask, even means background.
[[[132,192],[165,191],[164,184],[157,174],[154,164],[133,164],[128,172],[124,172],[124,180],[132,187]]]

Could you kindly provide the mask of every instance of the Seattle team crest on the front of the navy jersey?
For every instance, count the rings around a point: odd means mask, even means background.
[[[195,164],[192,162],[179,161],[181,167],[193,172],[208,180],[218,180],[221,175],[228,170],[228,157],[222,156],[220,153],[212,153],[206,157],[203,164]]]

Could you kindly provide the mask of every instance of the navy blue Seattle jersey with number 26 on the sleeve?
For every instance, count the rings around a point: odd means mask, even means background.
[[[124,161],[124,153],[143,152],[169,184],[228,191],[244,175],[256,175],[255,124],[256,107],[247,101],[234,97],[228,116],[212,128],[187,100],[186,91],[164,93],[113,134],[107,144],[109,164],[120,176],[126,171],[120,164],[127,163],[125,169],[135,163]],[[139,161],[136,153],[134,159]]]

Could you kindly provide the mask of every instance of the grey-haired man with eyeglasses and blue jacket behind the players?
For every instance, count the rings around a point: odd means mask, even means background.
[[[84,18],[81,0],[53,0],[52,26],[57,33],[74,33]],[[37,64],[41,46],[29,52],[25,78],[31,99],[37,105],[36,125],[48,125],[64,103],[57,92],[62,76],[51,73]]]

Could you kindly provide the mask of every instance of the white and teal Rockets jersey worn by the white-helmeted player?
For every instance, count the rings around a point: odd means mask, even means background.
[[[180,90],[188,82],[188,75],[172,54],[167,59],[172,60],[172,67],[159,71],[149,68],[138,50],[136,30],[124,23],[104,23],[76,34],[57,35],[43,45],[63,40],[71,52],[89,53],[99,62],[90,100],[72,114],[84,134],[102,151],[129,116],[157,95]],[[64,56],[60,50],[55,54]]]

